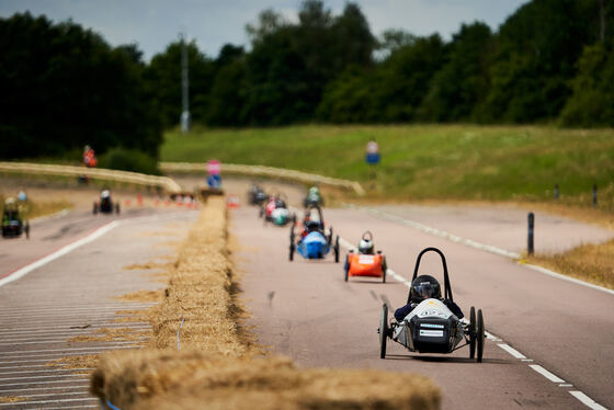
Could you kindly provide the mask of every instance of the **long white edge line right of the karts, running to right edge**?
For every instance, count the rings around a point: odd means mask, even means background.
[[[445,230],[432,228],[430,226],[420,224],[416,220],[406,219],[406,218],[402,218],[400,216],[397,216],[397,215],[394,215],[394,214],[388,214],[388,213],[385,213],[383,210],[375,209],[375,208],[372,208],[372,207],[368,207],[368,206],[363,206],[363,207],[356,207],[356,206],[353,206],[353,205],[346,205],[346,206],[349,208],[352,208],[352,209],[365,209],[367,213],[369,213],[372,215],[379,216],[384,219],[388,219],[388,220],[391,220],[391,221],[395,221],[395,223],[399,223],[399,224],[409,226],[411,228],[418,229],[418,230],[420,230],[422,232],[425,232],[425,234],[431,234],[431,235],[437,236],[440,238],[450,239],[451,241],[456,242],[456,243],[462,243],[462,244],[465,244],[465,246],[470,247],[470,248],[479,249],[479,250],[487,251],[487,252],[490,252],[490,253],[499,254],[501,257],[513,259],[521,266],[525,266],[530,270],[541,272],[541,273],[546,274],[546,275],[552,276],[552,277],[556,277],[556,278],[559,278],[559,280],[562,280],[562,281],[567,281],[567,282],[571,282],[571,283],[575,283],[577,285],[590,287],[590,288],[595,289],[595,291],[605,292],[610,295],[614,295],[614,289],[609,289],[609,288],[603,287],[603,286],[599,286],[599,285],[595,285],[595,284],[592,284],[592,283],[588,283],[588,282],[584,282],[584,281],[577,280],[575,277],[562,275],[558,272],[554,272],[554,271],[550,271],[550,270],[542,267],[542,266],[533,265],[531,263],[519,262],[518,260],[521,259],[521,255],[515,253],[515,252],[510,252],[510,251],[507,251],[504,249],[500,249],[500,248],[497,248],[497,247],[493,247],[493,246],[490,246],[490,244],[484,244],[484,243],[479,243],[479,242],[476,242],[476,241],[470,240],[470,239],[462,238],[462,237],[458,237],[456,235],[446,232]]]

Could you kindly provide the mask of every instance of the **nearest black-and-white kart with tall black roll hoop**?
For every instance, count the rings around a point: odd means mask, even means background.
[[[418,276],[420,260],[427,252],[436,252],[443,263],[445,299],[453,300],[452,287],[447,274],[447,264],[442,251],[427,248],[418,255],[413,280]],[[408,304],[410,303],[408,297]],[[466,345],[469,346],[469,358],[481,362],[485,343],[485,326],[481,309],[471,306],[469,321],[459,320],[440,299],[430,298],[418,304],[402,320],[393,319],[388,322],[388,306],[382,306],[379,318],[379,357],[386,357],[386,342],[388,339],[403,345],[410,352],[418,353],[452,353]]]

